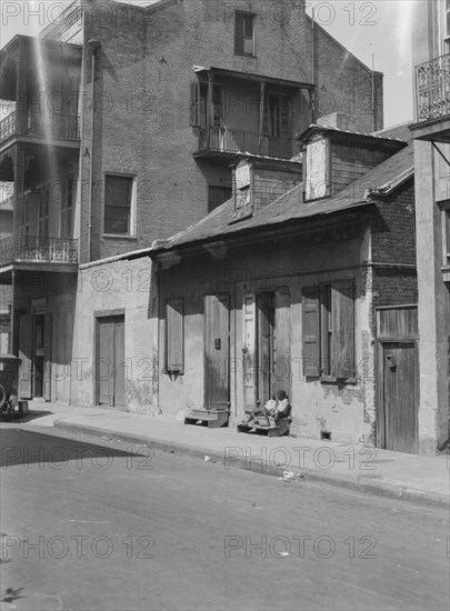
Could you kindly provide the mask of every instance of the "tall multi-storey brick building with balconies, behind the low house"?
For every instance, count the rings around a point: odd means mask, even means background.
[[[74,2],[0,61],[14,108],[0,123],[0,180],[14,186],[0,272],[23,397],[150,413],[153,272],[117,258],[228,200],[239,151],[289,166],[297,136],[333,111],[382,128],[382,74],[303,0]]]

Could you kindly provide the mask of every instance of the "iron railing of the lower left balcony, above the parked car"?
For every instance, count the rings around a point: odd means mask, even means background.
[[[9,236],[0,240],[0,264],[19,261],[77,263],[78,240],[38,236]]]

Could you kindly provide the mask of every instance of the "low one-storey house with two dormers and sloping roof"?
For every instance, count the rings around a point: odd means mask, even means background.
[[[239,422],[282,389],[298,435],[418,451],[413,147],[401,136],[311,126],[303,177],[282,167],[298,184],[274,201],[260,197],[272,163],[239,156],[233,197],[150,249],[164,414]]]

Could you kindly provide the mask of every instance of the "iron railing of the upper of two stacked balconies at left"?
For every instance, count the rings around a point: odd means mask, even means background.
[[[64,114],[29,114],[27,128],[20,133],[17,111],[0,121],[0,142],[12,136],[39,139],[72,140],[80,139],[80,117]]]

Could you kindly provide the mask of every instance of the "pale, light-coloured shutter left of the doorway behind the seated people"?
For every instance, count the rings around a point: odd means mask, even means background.
[[[242,306],[242,371],[243,371],[243,404],[246,411],[257,405],[257,315],[256,297],[246,294]]]

